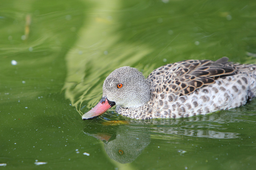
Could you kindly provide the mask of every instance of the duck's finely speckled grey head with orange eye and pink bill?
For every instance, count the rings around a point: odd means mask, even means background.
[[[99,117],[114,105],[124,108],[140,107],[150,99],[150,85],[138,69],[124,66],[115,69],[103,83],[102,99],[83,120]]]

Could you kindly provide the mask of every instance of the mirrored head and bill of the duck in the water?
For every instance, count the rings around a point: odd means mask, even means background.
[[[106,128],[107,127],[107,128]],[[145,128],[119,125],[97,127],[91,133],[84,128],[84,133],[104,142],[107,155],[119,163],[131,163],[143,152],[150,143],[150,135]],[[89,130],[89,131],[88,131]]]

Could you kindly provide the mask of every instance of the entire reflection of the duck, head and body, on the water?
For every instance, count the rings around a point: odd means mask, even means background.
[[[230,123],[244,121],[241,116],[241,114],[222,112],[221,115],[212,114],[186,119],[99,120],[89,123],[83,131],[104,142],[104,149],[111,159],[119,163],[131,163],[152,139],[154,144],[168,140],[169,143],[183,147],[188,137],[200,138],[194,140],[202,144],[209,138],[218,140],[238,138],[240,134],[230,132],[228,127]],[[190,138],[190,140],[193,139]],[[170,148],[166,149],[174,150],[175,148],[170,145]]]

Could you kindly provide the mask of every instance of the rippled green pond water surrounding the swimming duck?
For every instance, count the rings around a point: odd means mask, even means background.
[[[184,119],[80,115],[121,66],[256,63],[255,1],[0,4],[0,169],[255,169],[256,100]]]

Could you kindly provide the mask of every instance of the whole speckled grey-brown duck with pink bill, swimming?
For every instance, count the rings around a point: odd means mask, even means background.
[[[133,67],[115,69],[104,80],[102,99],[82,119],[95,119],[113,106],[118,114],[137,120],[240,107],[256,95],[256,65],[228,60],[179,61],[155,69],[147,78]]]

